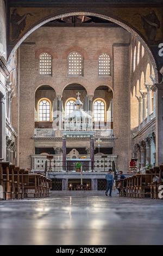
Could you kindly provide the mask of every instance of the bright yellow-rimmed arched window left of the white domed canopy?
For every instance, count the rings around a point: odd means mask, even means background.
[[[38,102],[37,119],[38,121],[51,121],[51,102],[47,98],[42,98]]]

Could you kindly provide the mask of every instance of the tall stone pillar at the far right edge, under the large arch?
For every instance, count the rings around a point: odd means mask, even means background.
[[[163,83],[152,87],[156,104],[156,165],[163,163]]]

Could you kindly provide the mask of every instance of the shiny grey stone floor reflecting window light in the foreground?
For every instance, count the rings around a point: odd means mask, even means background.
[[[73,196],[0,201],[1,245],[163,245],[163,200]]]

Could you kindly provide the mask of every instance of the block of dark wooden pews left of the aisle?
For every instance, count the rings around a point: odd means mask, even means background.
[[[52,181],[42,174],[29,174],[29,171],[9,162],[0,162],[0,185],[3,187],[5,200],[23,199],[30,194],[34,198],[46,198],[52,188]]]

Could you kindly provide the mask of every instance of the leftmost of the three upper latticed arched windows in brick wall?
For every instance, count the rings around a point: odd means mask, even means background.
[[[40,75],[52,75],[52,56],[49,53],[42,53],[39,58]]]

